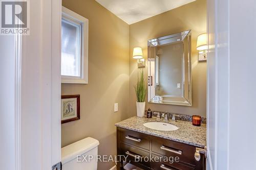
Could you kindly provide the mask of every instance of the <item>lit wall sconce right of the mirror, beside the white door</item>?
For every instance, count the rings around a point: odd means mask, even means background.
[[[207,50],[207,34],[203,33],[200,34],[197,37],[197,50],[198,52],[198,60],[199,61],[206,61],[207,60],[207,54],[206,54],[206,50]]]

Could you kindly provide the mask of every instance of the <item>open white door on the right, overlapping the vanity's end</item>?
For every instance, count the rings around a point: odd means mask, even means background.
[[[208,0],[207,170],[256,169],[256,1]]]

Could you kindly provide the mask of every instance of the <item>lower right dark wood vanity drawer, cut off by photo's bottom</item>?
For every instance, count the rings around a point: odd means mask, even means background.
[[[151,162],[151,167],[153,169],[162,169],[162,170],[195,170],[194,167],[190,167],[187,165],[184,165],[182,163],[179,162],[167,162],[167,161],[163,161],[163,156],[157,156],[157,155],[152,155],[153,158],[154,157],[159,157],[159,160],[161,159],[161,161],[155,161],[155,162]]]

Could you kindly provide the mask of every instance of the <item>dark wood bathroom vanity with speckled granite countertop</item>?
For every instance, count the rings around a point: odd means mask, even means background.
[[[169,120],[178,130],[159,131],[143,125],[148,122],[166,124],[156,118],[135,116],[115,125],[117,155],[124,155],[126,162],[142,169],[205,169],[206,124],[195,127],[191,122]],[[125,157],[121,157],[117,169],[123,169]]]

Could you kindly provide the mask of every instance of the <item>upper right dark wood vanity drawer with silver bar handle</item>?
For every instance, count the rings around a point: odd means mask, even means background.
[[[178,156],[180,161],[195,165],[196,148],[187,144],[153,136],[152,152],[165,156]]]

